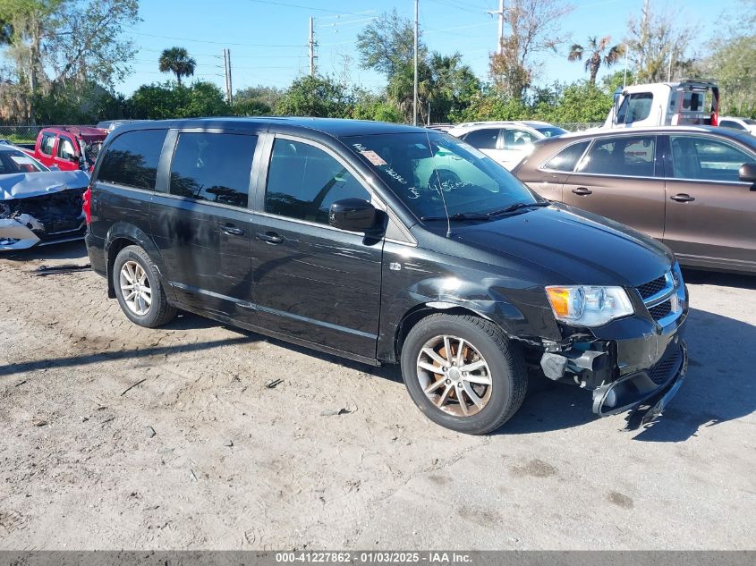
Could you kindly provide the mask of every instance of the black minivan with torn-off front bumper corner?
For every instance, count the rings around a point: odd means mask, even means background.
[[[605,416],[682,384],[673,254],[549,202],[442,132],[317,118],[124,124],[85,199],[92,267],[137,325],[177,309],[380,365],[470,434],[543,372]]]

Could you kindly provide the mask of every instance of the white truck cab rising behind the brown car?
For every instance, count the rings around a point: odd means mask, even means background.
[[[605,128],[718,125],[719,88],[706,80],[656,82],[617,89]]]

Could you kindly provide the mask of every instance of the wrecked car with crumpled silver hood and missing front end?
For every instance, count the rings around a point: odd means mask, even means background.
[[[51,171],[13,146],[0,145],[0,251],[80,240],[83,171]]]

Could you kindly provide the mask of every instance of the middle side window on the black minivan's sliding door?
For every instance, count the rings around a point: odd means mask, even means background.
[[[246,207],[257,136],[181,133],[171,163],[172,195]]]

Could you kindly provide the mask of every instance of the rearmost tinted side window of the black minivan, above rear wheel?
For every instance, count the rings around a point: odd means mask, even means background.
[[[166,130],[127,131],[113,140],[103,156],[98,181],[155,190],[157,163]]]

